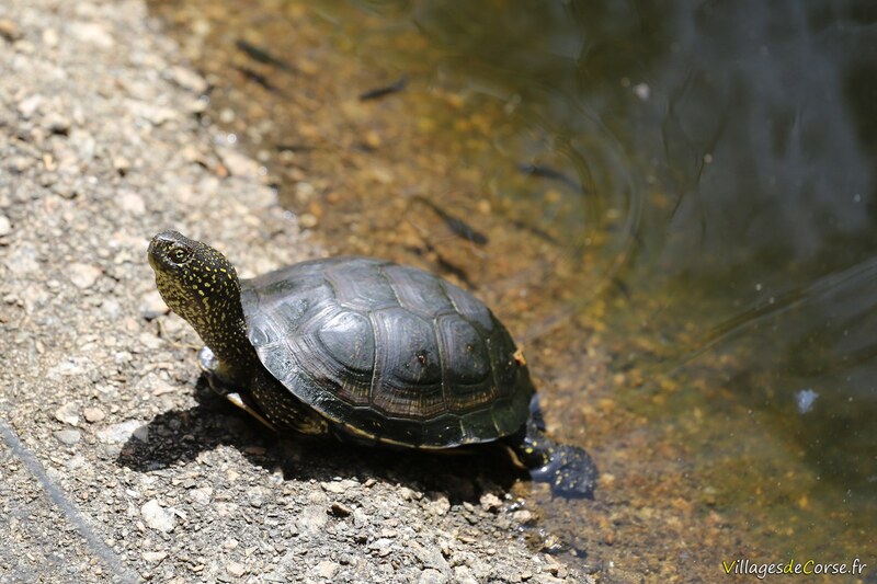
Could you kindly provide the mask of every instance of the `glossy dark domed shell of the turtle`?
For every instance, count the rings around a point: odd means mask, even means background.
[[[317,260],[243,280],[241,300],[265,368],[354,438],[448,448],[514,434],[529,415],[534,388],[509,332],[422,270]]]

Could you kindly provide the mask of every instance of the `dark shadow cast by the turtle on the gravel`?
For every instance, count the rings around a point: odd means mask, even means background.
[[[214,393],[203,378],[194,397],[197,405],[164,412],[149,422],[145,442],[129,437],[116,463],[150,472],[230,446],[249,462],[273,473],[280,471],[284,480],[374,479],[423,493],[444,493],[452,503],[477,503],[481,494],[508,492],[517,479],[527,478],[499,445],[425,453],[298,434],[277,436]]]

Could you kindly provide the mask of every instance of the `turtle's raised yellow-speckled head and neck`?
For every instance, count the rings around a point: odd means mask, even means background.
[[[226,256],[176,231],[149,242],[149,265],[168,307],[197,331],[219,359],[223,377],[243,378],[255,358],[247,340],[240,283]]]

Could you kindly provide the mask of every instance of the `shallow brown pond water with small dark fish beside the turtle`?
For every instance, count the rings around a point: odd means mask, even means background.
[[[438,272],[523,342],[603,472],[526,493],[534,547],[610,581],[875,568],[873,3],[152,7],[329,251]]]

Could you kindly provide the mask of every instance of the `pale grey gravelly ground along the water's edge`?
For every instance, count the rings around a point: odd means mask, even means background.
[[[178,55],[140,1],[0,5],[0,582],[590,579],[498,457],[278,442],[198,387],[149,237],[244,276],[320,250]]]

